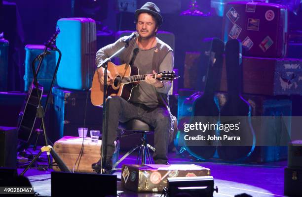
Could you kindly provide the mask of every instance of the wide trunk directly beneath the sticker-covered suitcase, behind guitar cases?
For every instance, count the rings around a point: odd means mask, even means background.
[[[219,91],[227,92],[225,64]],[[242,57],[244,94],[302,95],[302,59]]]

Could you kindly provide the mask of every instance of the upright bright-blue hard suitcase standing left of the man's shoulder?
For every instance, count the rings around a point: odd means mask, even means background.
[[[95,71],[96,25],[91,18],[61,18],[61,33],[56,40],[62,59],[57,73],[58,85],[74,90],[91,88]],[[59,54],[56,54],[58,60]]]

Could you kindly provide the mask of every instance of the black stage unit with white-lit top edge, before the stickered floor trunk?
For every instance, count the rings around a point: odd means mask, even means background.
[[[178,194],[190,197],[213,197],[214,191],[218,193],[218,188],[214,188],[212,176],[168,177],[168,197],[175,197]]]

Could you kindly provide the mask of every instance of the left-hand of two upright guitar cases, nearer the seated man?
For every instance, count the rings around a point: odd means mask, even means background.
[[[223,52],[225,44],[217,38],[208,39],[203,43],[203,49],[200,56],[200,77],[197,83],[203,88],[204,92],[198,92],[192,95],[184,102],[184,106],[192,106],[191,117],[187,120],[182,119],[179,126],[182,127],[186,123],[194,124],[199,123],[217,123],[219,117],[219,104],[215,100],[215,90],[218,89],[220,84],[220,77],[217,77],[216,70],[220,71],[223,65]],[[190,130],[189,136],[202,135],[205,138],[215,135],[215,130],[200,131]],[[186,134],[185,134],[186,135]],[[212,158],[216,151],[216,144],[208,140],[190,140],[184,141],[186,150],[190,155],[197,159],[206,160]]]

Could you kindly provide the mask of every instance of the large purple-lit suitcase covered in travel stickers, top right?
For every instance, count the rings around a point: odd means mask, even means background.
[[[224,13],[223,40],[241,40],[245,56],[284,57],[287,18],[285,5],[261,0],[229,2]]]

